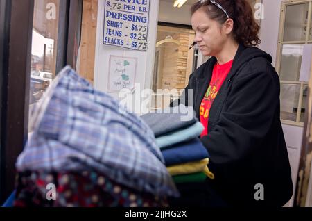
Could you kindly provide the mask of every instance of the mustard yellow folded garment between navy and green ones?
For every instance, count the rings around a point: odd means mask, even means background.
[[[172,176],[180,175],[180,174],[191,174],[194,172],[204,171],[208,163],[209,163],[209,159],[205,158],[205,159],[202,159],[201,161],[193,161],[190,163],[172,165],[170,167],[167,167],[167,170]]]

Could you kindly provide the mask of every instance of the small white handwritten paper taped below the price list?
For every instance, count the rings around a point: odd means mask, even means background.
[[[110,73],[108,90],[119,91],[123,88],[133,89],[137,72],[137,58],[110,56]]]

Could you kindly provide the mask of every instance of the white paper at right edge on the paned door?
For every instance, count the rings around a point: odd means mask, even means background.
[[[312,44],[304,44],[299,81],[309,81],[311,73]]]

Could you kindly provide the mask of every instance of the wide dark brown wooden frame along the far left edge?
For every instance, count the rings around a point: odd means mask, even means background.
[[[31,28],[33,26],[33,0],[1,0],[6,4],[7,26],[4,32],[1,69],[1,174],[0,200],[12,192],[15,181],[15,161],[21,152],[27,130],[28,99],[31,72]],[[2,8],[2,7],[1,7]]]

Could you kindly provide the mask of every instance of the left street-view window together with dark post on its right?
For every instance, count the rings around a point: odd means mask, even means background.
[[[75,68],[82,6],[83,1],[34,0],[29,114],[64,65]]]

